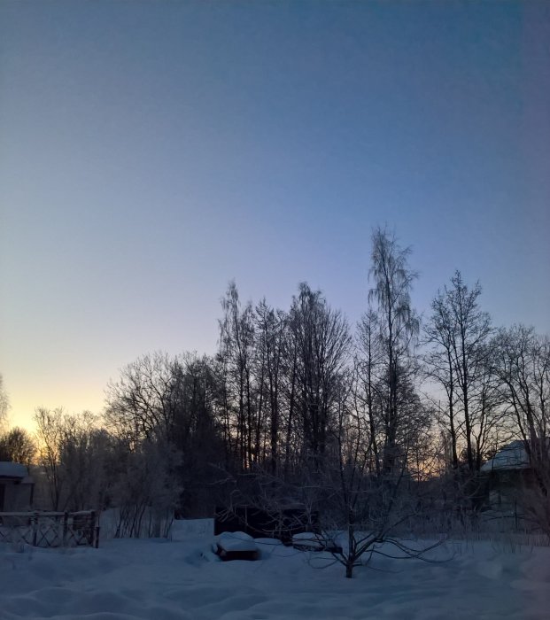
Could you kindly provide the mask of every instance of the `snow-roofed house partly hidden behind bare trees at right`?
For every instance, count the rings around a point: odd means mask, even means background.
[[[522,440],[504,446],[480,469],[486,477],[492,508],[515,505],[519,493],[535,484],[535,476]]]

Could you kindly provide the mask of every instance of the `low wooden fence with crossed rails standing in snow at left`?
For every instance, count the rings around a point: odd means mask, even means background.
[[[95,510],[0,512],[0,542],[32,546],[99,546]]]

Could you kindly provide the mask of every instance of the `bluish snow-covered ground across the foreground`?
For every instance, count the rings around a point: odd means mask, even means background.
[[[435,559],[375,556],[353,579],[320,554],[267,541],[258,562],[216,562],[212,522],[173,540],[102,540],[99,549],[0,545],[0,618],[550,618],[550,548],[455,542]]]

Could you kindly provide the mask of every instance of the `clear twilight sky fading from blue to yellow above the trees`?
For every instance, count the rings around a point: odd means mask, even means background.
[[[220,300],[298,283],[354,324],[376,226],[550,333],[550,3],[0,3],[0,374],[11,422],[100,413]]]

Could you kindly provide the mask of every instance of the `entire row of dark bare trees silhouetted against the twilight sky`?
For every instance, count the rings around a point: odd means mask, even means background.
[[[287,310],[266,299],[242,303],[230,283],[213,357],[135,360],[108,386],[101,423],[38,410],[51,504],[80,508],[85,497],[71,478],[88,493],[101,479],[100,504],[141,484],[142,508],[155,488],[159,505],[204,513],[227,489],[221,480],[235,490],[253,475],[278,500],[275,487],[301,502],[306,489],[337,488],[347,526],[368,518],[386,527],[403,480],[410,489],[438,474],[452,501],[471,508],[470,483],[484,460],[516,437],[547,496],[548,337],[495,329],[479,284],[470,287],[460,272],[421,322],[409,258],[395,236],[376,229],[368,308],[355,330],[306,283]],[[329,506],[334,493],[319,497]],[[139,523],[142,508],[121,527]]]

